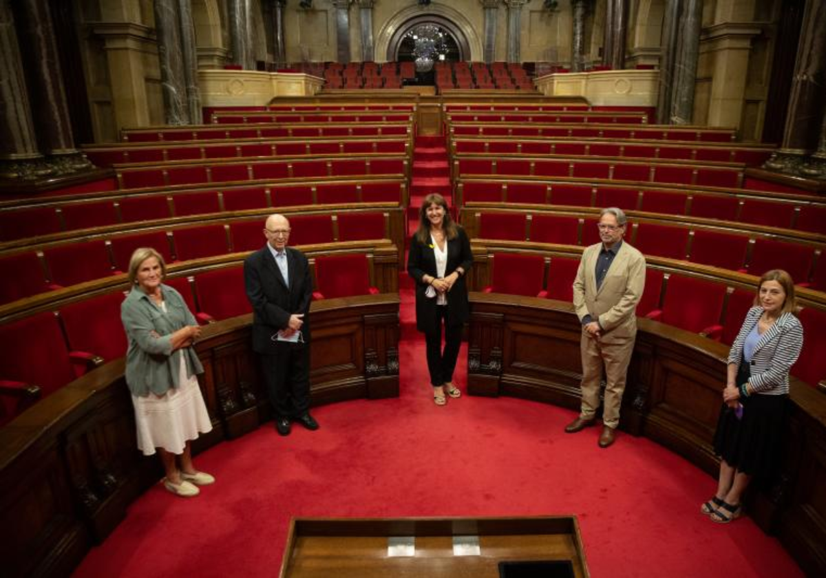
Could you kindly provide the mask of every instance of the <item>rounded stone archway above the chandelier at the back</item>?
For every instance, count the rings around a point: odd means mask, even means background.
[[[459,47],[461,59],[482,61],[484,52],[482,38],[468,18],[452,7],[431,4],[423,9],[411,6],[401,9],[390,17],[378,31],[376,37],[376,54],[388,61],[396,60],[399,45],[405,34],[412,27],[431,22],[448,31]]]

